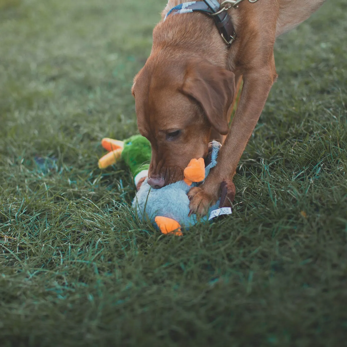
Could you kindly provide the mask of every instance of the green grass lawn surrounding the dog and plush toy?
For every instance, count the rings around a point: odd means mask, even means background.
[[[278,39],[279,79],[231,217],[166,237],[132,218],[102,137],[166,1],[0,0],[0,345],[342,346],[347,6]]]

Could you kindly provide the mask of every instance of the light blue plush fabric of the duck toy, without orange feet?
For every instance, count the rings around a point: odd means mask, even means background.
[[[208,176],[211,168],[217,164],[217,155],[220,149],[220,143],[212,141],[211,163],[205,167],[205,178]],[[196,215],[189,214],[189,199],[187,193],[189,189],[197,186],[193,183],[188,186],[183,180],[169,184],[160,189],[152,189],[147,183],[147,179],[142,183],[139,191],[133,200],[133,209],[138,217],[143,220],[148,216],[151,223],[157,227],[154,219],[157,216],[167,217],[176,220],[182,227],[186,229],[197,222]],[[218,209],[219,201],[210,207],[209,213],[201,218],[201,221],[208,219],[211,211]],[[158,228],[158,227],[157,227]]]

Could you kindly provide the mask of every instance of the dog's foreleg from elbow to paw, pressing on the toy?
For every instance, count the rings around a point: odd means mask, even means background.
[[[276,77],[273,55],[270,64],[244,73],[239,105],[218,154],[218,164],[202,185],[188,193],[191,213],[205,215],[209,205],[218,200],[221,182],[234,176]]]

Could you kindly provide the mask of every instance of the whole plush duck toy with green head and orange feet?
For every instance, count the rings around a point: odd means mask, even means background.
[[[184,170],[184,179],[160,189],[152,189],[147,183],[148,165],[144,161],[151,159],[151,147],[148,140],[140,135],[125,141],[103,139],[102,145],[110,152],[99,160],[99,167],[105,168],[120,158],[129,165],[137,188],[132,208],[140,220],[150,220],[163,234],[182,235],[181,228],[188,229],[197,223],[195,214],[189,214],[189,189],[198,186],[208,176],[211,168],[217,164],[221,144],[212,141],[209,144],[208,156],[192,159]],[[235,198],[235,185],[223,182],[221,197],[210,207],[208,214],[201,221],[211,220],[222,214],[231,213],[231,203]]]

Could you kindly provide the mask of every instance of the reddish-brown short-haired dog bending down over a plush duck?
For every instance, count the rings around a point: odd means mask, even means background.
[[[223,141],[219,134],[227,135],[217,166],[188,193],[193,213],[203,215],[217,201],[220,184],[234,176],[277,78],[276,37],[302,23],[324,1],[245,0],[228,10],[237,35],[230,46],[214,20],[199,12],[170,15],[156,25],[151,55],[132,89],[139,132],[152,145],[148,182],[153,188],[182,179],[189,161],[206,154],[210,136]],[[169,0],[162,18],[183,2]]]

